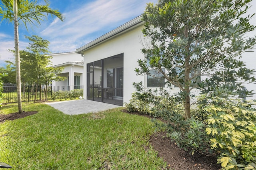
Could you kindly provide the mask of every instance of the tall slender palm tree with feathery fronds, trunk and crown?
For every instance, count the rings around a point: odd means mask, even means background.
[[[22,21],[27,27],[29,25],[40,25],[40,21],[47,18],[48,14],[58,17],[61,21],[64,16],[58,10],[49,8],[48,0],[46,5],[38,5],[37,0],[1,0],[0,15],[2,20],[14,22],[14,45],[15,45],[15,65],[16,65],[16,84],[18,97],[18,112],[22,112],[21,104],[21,82],[20,82],[20,53],[19,53],[19,34],[18,23]],[[46,15],[47,14],[47,15]]]

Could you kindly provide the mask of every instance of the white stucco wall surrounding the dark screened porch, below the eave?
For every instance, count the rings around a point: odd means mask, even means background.
[[[144,25],[138,25],[134,29],[118,35],[114,38],[105,41],[99,45],[91,47],[84,52],[84,89],[86,89],[86,80],[87,80],[87,70],[86,64],[112,57],[118,54],[124,54],[124,98],[123,102],[129,102],[132,93],[135,91],[135,88],[132,86],[133,82],[142,82],[146,87],[147,77],[138,76],[134,71],[135,68],[138,68],[138,59],[144,59],[144,54],[141,52],[143,47],[143,34],[141,32]],[[114,63],[115,66],[118,66],[118,63]],[[122,63],[120,63],[122,66]],[[106,68],[112,68],[111,63],[104,63],[104,75],[106,74]],[[104,80],[106,81],[106,80]],[[105,82],[106,84],[106,82]],[[171,93],[177,93],[180,90],[178,88],[172,88]],[[84,90],[84,98],[86,98],[87,90]],[[199,92],[193,90],[195,94]]]

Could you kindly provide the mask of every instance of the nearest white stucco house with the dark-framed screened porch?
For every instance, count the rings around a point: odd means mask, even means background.
[[[84,99],[122,106],[124,102],[129,102],[135,91],[133,82],[142,82],[147,88],[162,86],[163,78],[138,76],[134,71],[138,68],[138,59],[144,59],[141,49],[146,41],[142,28],[144,22],[139,16],[75,51],[84,56]],[[246,60],[251,62],[252,57],[250,55]],[[255,63],[256,60],[253,60]],[[248,90],[252,87],[255,89],[255,84]],[[114,92],[108,93],[110,88]],[[172,87],[172,93],[179,91],[177,87]],[[198,94],[196,90],[194,92]]]

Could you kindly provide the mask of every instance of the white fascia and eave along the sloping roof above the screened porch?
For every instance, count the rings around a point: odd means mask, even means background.
[[[107,39],[109,39],[111,37],[114,37],[114,36],[116,36],[120,33],[128,31],[128,30],[132,29],[137,24],[142,25],[144,22],[141,20],[141,17],[142,16],[138,16],[137,18],[134,18],[133,20],[128,21],[127,23],[121,25],[120,27],[118,27],[118,28],[102,35],[101,37],[91,41],[90,43],[88,43],[88,44],[84,45],[83,47],[80,47],[79,49],[77,49],[75,51],[75,53],[84,54],[84,53],[82,53],[82,51],[84,51],[86,49],[89,49],[90,47],[92,47],[94,45],[97,45],[99,43],[102,43],[102,42],[106,41]]]

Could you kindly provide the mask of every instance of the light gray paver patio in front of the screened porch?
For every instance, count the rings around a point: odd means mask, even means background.
[[[113,104],[106,104],[102,102],[95,102],[92,100],[84,100],[84,99],[62,101],[62,102],[50,102],[46,104],[68,115],[78,115],[82,113],[91,113],[91,112],[96,113],[99,111],[120,107]]]

